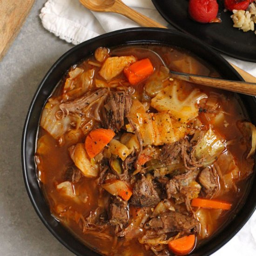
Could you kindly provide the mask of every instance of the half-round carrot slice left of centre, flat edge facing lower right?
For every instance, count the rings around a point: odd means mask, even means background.
[[[115,133],[110,129],[92,130],[85,139],[85,149],[89,157],[93,158],[98,155],[114,136]]]

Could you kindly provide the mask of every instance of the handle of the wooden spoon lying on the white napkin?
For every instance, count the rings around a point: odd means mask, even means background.
[[[143,27],[167,28],[167,27],[164,27],[162,24],[156,22],[155,20],[152,20],[147,16],[144,16],[143,14],[136,12],[134,9],[125,5],[121,0],[115,0],[114,5],[111,7],[111,11],[122,14],[127,18],[134,20],[135,22],[137,22]]]

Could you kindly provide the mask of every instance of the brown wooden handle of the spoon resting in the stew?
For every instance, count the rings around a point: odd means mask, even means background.
[[[228,90],[231,92],[256,96],[256,83],[230,81],[225,79],[211,78],[207,76],[180,73],[174,71],[170,71],[170,76],[171,78],[176,78],[182,81],[188,81],[191,83]]]

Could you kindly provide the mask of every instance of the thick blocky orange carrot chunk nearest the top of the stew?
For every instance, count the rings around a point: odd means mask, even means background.
[[[136,85],[152,74],[154,72],[154,67],[151,61],[147,58],[135,61],[132,65],[125,67],[123,72],[129,83]]]

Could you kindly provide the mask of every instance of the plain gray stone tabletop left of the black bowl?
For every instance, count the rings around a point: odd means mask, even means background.
[[[46,229],[27,196],[20,144],[35,90],[52,64],[72,47],[46,31],[36,0],[0,61],[0,256],[71,256]]]

